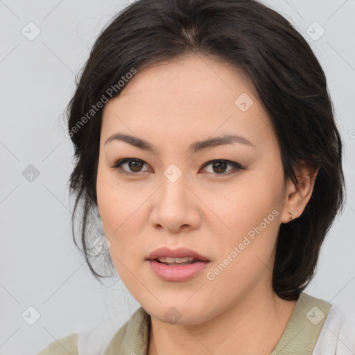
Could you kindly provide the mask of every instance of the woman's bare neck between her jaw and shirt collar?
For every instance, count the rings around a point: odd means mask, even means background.
[[[151,317],[148,355],[172,350],[176,355],[270,354],[297,301],[282,300],[273,291],[267,295],[257,291],[201,324],[167,324]]]

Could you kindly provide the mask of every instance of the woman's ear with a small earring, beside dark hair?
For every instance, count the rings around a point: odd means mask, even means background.
[[[319,168],[302,166],[302,169],[296,172],[299,191],[295,183],[288,180],[281,223],[291,222],[301,216],[312,196],[318,170]]]

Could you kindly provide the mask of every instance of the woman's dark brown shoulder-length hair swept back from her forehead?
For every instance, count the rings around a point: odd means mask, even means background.
[[[102,114],[96,104],[108,92],[109,98],[118,96],[132,68],[139,71],[189,54],[230,63],[252,80],[279,142],[285,180],[297,186],[298,166],[319,168],[302,216],[282,224],[277,237],[272,287],[284,300],[297,300],[314,275],[324,237],[343,209],[342,141],[324,71],[309,44],[282,15],[254,0],[139,0],[103,29],[67,107],[76,160],[70,176],[70,192],[76,196],[74,242],[81,202],[78,248],[96,279],[105,277],[93,268],[89,241],[97,207]],[[95,112],[90,111],[94,106]],[[113,268],[109,253],[105,260]]]

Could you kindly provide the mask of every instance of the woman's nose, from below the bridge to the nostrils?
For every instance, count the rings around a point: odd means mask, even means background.
[[[193,189],[187,186],[184,175],[175,182],[164,177],[162,186],[155,193],[153,203],[150,225],[155,228],[176,234],[200,226],[201,202],[193,193]]]

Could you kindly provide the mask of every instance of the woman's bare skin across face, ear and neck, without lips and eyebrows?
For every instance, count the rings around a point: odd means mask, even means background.
[[[288,212],[293,218],[302,214],[316,172],[300,172],[300,193],[284,179],[270,118],[254,92],[248,77],[230,64],[189,55],[144,67],[104,107],[98,211],[119,276],[151,316],[149,355],[172,349],[174,354],[270,354],[295,309],[296,301],[282,300],[272,290],[275,243]],[[245,112],[234,104],[243,93],[254,101]],[[157,152],[124,141],[105,145],[116,132],[145,139]],[[223,134],[241,135],[254,146],[188,150],[193,142]],[[144,164],[112,168],[125,157]],[[212,159],[238,162],[244,169],[203,167]],[[175,182],[164,175],[171,164],[182,172]],[[275,210],[278,215],[238,257],[207,279],[207,272]],[[208,257],[209,266],[187,281],[166,282],[146,261],[164,245],[196,250]],[[169,323],[164,314],[172,306],[181,318]]]

